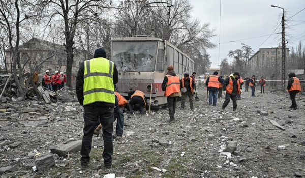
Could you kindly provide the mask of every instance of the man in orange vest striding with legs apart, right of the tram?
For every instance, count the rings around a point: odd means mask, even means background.
[[[224,83],[224,91],[226,91],[226,99],[224,104],[222,105],[221,111],[224,112],[225,108],[230,103],[230,98],[233,101],[233,111],[237,109],[237,94],[240,94],[242,90],[240,89],[240,80],[238,80],[239,72],[234,72],[230,76],[228,76]]]

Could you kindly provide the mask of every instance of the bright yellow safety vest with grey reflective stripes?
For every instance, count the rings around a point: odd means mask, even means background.
[[[84,62],[84,105],[94,102],[115,104],[114,63],[103,57]]]

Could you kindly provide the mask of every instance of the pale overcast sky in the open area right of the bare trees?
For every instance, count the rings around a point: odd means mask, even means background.
[[[281,34],[276,33],[282,30],[279,25],[281,22],[280,13],[283,10],[272,8],[271,4],[284,8],[288,18],[305,8],[304,0],[190,0],[190,3],[193,5],[193,17],[198,18],[202,24],[210,23],[211,28],[215,29],[217,36],[212,39],[212,42],[217,44],[217,47],[208,50],[213,68],[218,68],[223,58],[227,57],[231,62],[232,59],[227,56],[229,50],[241,48],[241,43],[251,46],[255,52],[259,48],[279,46]],[[287,46],[295,48],[300,40],[304,45],[305,10],[290,18],[286,23],[287,29],[285,33],[289,35],[286,37],[288,40]],[[276,32],[266,40],[277,27]],[[264,42],[265,40],[266,42]]]

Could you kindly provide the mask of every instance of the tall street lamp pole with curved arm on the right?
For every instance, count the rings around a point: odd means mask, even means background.
[[[282,86],[285,87],[286,80],[285,80],[285,61],[286,61],[286,43],[285,43],[285,10],[279,6],[271,5],[272,8],[280,8],[283,9],[283,16],[282,16]]]

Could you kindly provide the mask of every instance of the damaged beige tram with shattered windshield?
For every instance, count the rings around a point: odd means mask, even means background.
[[[112,39],[111,61],[118,70],[118,92],[130,98],[132,92],[140,90],[152,108],[167,103],[161,88],[167,66],[174,66],[180,78],[194,70],[194,61],[185,53],[166,40],[150,36]]]

